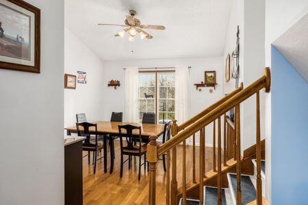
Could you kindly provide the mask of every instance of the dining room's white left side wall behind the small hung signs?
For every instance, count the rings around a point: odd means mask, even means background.
[[[103,111],[103,63],[72,32],[64,29],[65,59],[67,74],[77,75],[77,71],[87,72],[87,83],[77,83],[76,90],[64,90],[64,126],[76,123],[76,113],[86,113],[87,120],[101,119]]]

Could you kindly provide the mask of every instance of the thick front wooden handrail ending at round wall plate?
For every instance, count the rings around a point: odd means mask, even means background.
[[[162,144],[162,146],[159,146],[157,150],[158,156],[161,156],[168,150],[177,146],[183,140],[192,136],[194,133],[201,130],[201,128],[207,126],[220,115],[223,115],[224,113],[235,107],[235,105],[238,105],[247,98],[253,96],[253,94],[263,88],[265,88],[265,92],[270,92],[270,68],[264,68],[264,75],[261,78],[257,79],[257,81],[244,88],[228,100],[222,102],[222,104],[220,104],[218,107],[209,111],[209,113],[204,115],[202,118],[199,118],[199,120],[196,120],[194,123],[187,126],[184,130],[177,133],[177,135],[166,141],[166,143]],[[176,121],[173,121],[173,124],[175,123]]]

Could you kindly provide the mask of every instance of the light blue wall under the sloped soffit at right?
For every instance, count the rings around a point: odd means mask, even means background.
[[[272,204],[308,204],[308,83],[274,46],[271,72]]]

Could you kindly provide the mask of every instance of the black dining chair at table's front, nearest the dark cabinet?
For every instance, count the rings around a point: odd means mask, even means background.
[[[83,128],[83,131],[80,131],[79,126]],[[90,127],[94,127],[95,138],[91,138]],[[90,152],[93,152],[93,163],[94,164],[94,174],[97,171],[97,155],[98,152],[103,149],[103,141],[99,141],[99,136],[97,135],[97,124],[91,124],[89,122],[76,123],[77,135],[86,137],[82,143],[82,150],[88,151],[88,164],[90,165]],[[103,158],[103,157],[102,157]]]

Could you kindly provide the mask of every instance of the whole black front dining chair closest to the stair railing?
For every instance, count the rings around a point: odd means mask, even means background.
[[[123,133],[122,131],[125,130]],[[133,131],[137,131],[133,135]],[[129,169],[131,168],[132,156],[139,156],[139,173],[138,180],[140,180],[141,166],[144,165],[146,169],[146,143],[142,143],[141,140],[141,126],[133,126],[131,124],[119,125],[118,133],[120,135],[120,178],[123,176],[123,164],[129,162]],[[135,142],[138,141],[137,144]],[[123,161],[123,156],[128,155],[128,159]],[[144,163],[141,164],[141,157],[144,155]]]

